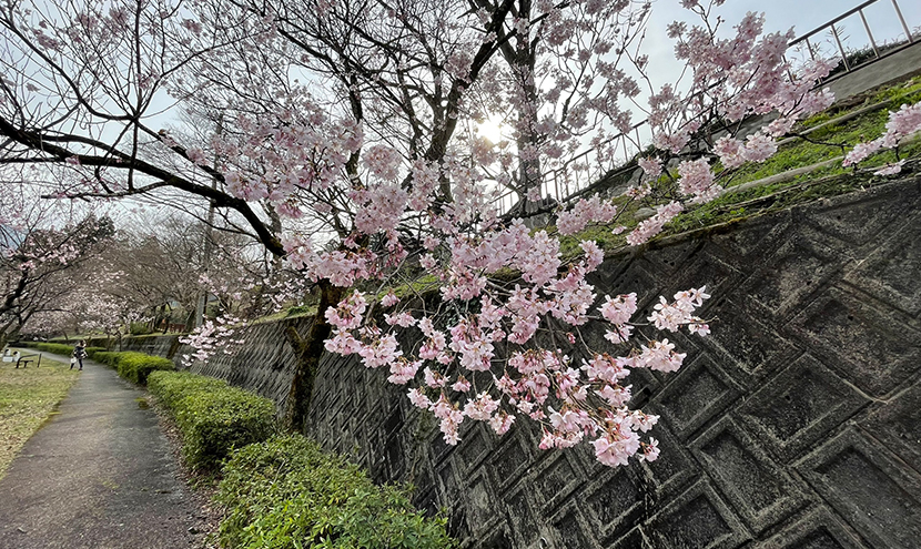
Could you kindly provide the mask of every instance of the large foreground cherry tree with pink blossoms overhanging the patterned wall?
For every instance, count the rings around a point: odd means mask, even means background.
[[[696,312],[709,296],[689,288],[637,317],[629,288],[599,296],[587,282],[604,251],[579,233],[624,232],[625,203],[641,201],[656,213],[627,242],[647,242],[831,101],[812,91],[828,65],[788,79],[792,34],[765,33],[753,13],[723,29],[721,3],[682,1],[701,24],[670,28],[687,77],[660,89],[641,51],[649,7],[626,1],[9,3],[0,162],[70,173],[49,196],[196,200],[284,257],[307,281],[292,295],[314,287],[318,306],[306,334],[286,334],[291,427],[325,349],[409,385],[451,444],[464,421],[503,434],[529,418],[542,448],[587,439],[606,465],[655,459],[640,433],[656,418],[629,408],[625,378],[674,372],[684,354],[636,328],[705,336]],[[220,124],[204,143],[155,130],[169,102]],[[615,166],[634,108],[654,148],[625,197],[560,194],[554,225],[525,225],[549,211],[527,206],[549,179]],[[494,115],[510,142],[477,134]],[[520,206],[502,211],[507,191]],[[564,256],[565,242],[579,253]],[[212,323],[193,339],[237,328]]]

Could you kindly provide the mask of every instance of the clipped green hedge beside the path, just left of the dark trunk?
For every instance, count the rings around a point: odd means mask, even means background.
[[[275,426],[275,406],[236,387],[199,382],[186,373],[154,373],[151,392],[171,408],[182,431],[182,451],[189,465],[215,469],[231,450],[269,438]],[[195,376],[199,377],[199,376]]]

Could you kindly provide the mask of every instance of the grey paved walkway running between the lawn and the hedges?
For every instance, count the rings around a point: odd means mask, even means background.
[[[84,360],[60,414],[0,480],[0,549],[202,546],[190,528],[204,519],[142,396],[114,370]]]

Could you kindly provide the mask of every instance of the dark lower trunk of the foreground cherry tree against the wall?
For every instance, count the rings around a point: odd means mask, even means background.
[[[307,334],[302,337],[294,326],[289,326],[284,332],[296,360],[283,418],[284,429],[293,433],[304,431],[320,358],[325,350],[323,344],[333,331],[326,321],[326,309],[338,304],[345,293],[345,288],[334,286],[328,281],[321,281],[318,287],[320,304]]]

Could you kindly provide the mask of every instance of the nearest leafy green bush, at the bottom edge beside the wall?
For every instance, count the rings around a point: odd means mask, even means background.
[[[300,435],[236,450],[215,499],[233,548],[449,548],[445,520],[414,509],[405,490],[377,487],[354,464]]]

